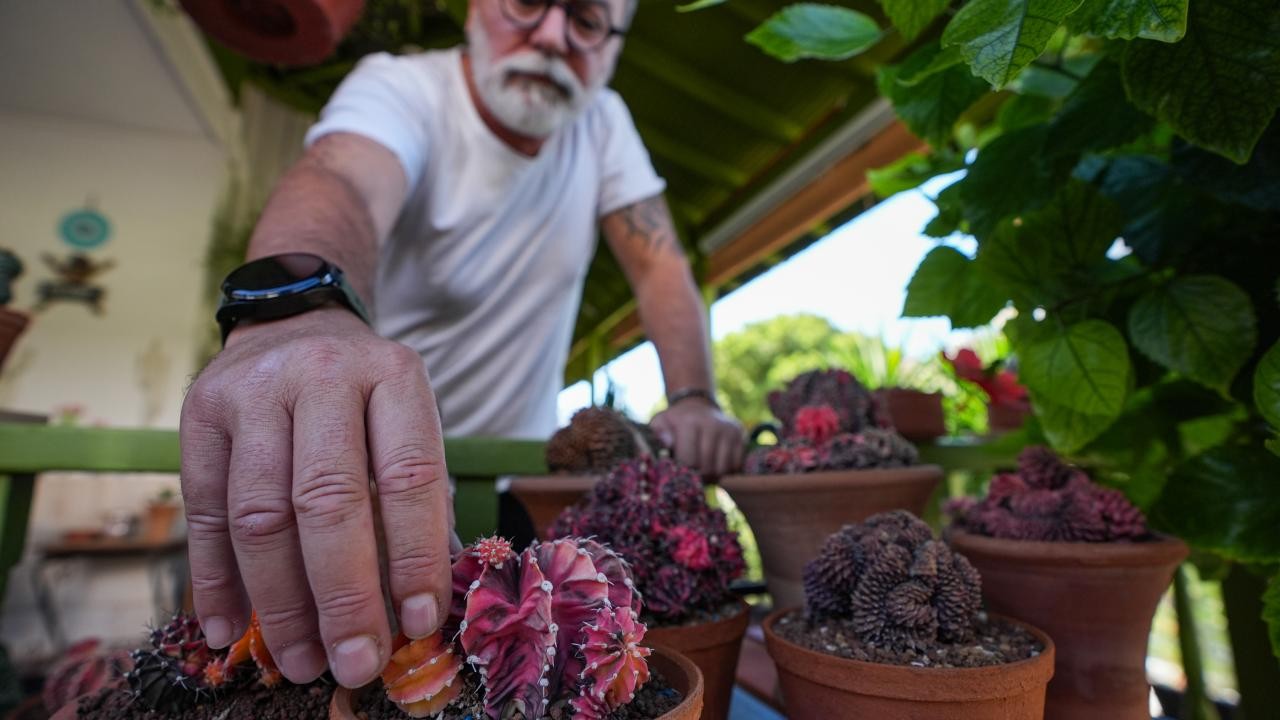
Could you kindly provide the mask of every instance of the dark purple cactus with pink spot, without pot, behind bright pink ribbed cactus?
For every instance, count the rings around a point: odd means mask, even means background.
[[[721,607],[745,569],[724,512],[707,505],[698,475],[671,460],[618,464],[550,533],[607,543],[631,564],[645,610],[668,621]]]

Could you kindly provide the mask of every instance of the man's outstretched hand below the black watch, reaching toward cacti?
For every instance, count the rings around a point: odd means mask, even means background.
[[[182,410],[196,612],[212,647],[248,628],[296,683],[343,685],[390,655],[369,479],[401,629],[448,612],[449,500],[422,361],[344,309],[237,328]],[[456,542],[456,541],[453,541]]]

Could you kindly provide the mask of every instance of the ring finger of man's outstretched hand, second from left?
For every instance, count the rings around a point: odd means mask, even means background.
[[[228,479],[232,542],[262,635],[284,676],[314,680],[325,669],[311,591],[293,518],[293,427],[275,398],[239,406]]]

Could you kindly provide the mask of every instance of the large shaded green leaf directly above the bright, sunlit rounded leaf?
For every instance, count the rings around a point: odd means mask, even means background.
[[[1120,233],[1120,210],[1070,181],[1048,205],[1006,220],[978,243],[977,268],[1023,310],[1052,306],[1100,281]]]

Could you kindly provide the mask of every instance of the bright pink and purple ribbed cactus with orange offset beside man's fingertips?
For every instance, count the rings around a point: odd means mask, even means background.
[[[617,691],[620,662],[632,679],[648,678],[648,651],[636,644],[640,597],[627,564],[595,541],[562,538],[516,553],[509,542],[485,538],[454,560],[453,585],[445,629],[398,650],[384,674],[388,696],[413,716],[439,712],[457,694],[465,669],[454,656],[479,673],[490,717],[541,717],[575,703],[608,712],[637,687]],[[602,628],[622,633],[618,661],[591,655]],[[452,630],[454,642],[445,642]]]

